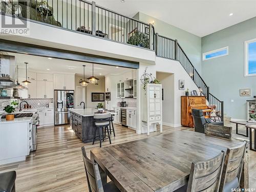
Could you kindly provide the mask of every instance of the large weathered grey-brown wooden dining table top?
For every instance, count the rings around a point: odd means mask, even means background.
[[[192,162],[208,160],[240,144],[242,141],[236,139],[174,131],[94,148],[91,159],[121,191],[173,191],[187,183]],[[106,177],[103,180],[104,184]]]

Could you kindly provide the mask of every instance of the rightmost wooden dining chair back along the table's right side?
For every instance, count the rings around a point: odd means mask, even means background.
[[[244,141],[240,146],[227,149],[221,176],[220,191],[226,192],[234,188],[239,188],[246,145],[247,142]]]

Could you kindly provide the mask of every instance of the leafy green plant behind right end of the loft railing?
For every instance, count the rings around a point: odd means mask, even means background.
[[[127,44],[150,49],[150,39],[148,39],[148,36],[146,34],[139,31],[135,31],[133,35],[130,36]]]

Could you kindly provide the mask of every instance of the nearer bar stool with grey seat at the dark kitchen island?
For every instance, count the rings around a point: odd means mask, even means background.
[[[95,140],[99,140],[99,146],[101,147],[101,140],[104,141],[104,138],[106,135],[103,134],[103,129],[105,128],[106,131],[108,132],[108,137],[107,139],[110,140],[111,144],[111,139],[110,139],[110,131],[109,131],[109,126],[111,122],[111,114],[94,114],[94,126],[95,126],[95,131],[94,131],[94,138],[93,138],[93,144]],[[99,132],[99,135],[96,136],[97,130]]]

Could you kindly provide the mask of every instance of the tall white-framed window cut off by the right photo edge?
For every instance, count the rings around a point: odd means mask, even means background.
[[[256,75],[256,39],[245,41],[245,76]]]

